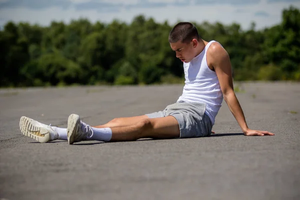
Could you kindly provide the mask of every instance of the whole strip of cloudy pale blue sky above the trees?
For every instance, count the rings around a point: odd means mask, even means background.
[[[236,22],[242,29],[253,21],[255,29],[262,29],[280,23],[282,10],[290,5],[300,9],[300,0],[0,0],[0,26],[7,21],[47,26],[53,20],[68,23],[78,18],[130,23],[143,14],[169,24]]]

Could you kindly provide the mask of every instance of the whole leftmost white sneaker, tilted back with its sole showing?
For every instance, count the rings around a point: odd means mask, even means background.
[[[54,131],[51,126],[26,116],[20,118],[19,126],[23,135],[31,137],[41,143],[55,140],[58,137],[58,133]]]

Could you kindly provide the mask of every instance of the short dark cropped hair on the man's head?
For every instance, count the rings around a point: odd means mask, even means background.
[[[189,42],[192,39],[199,40],[199,34],[194,24],[190,22],[177,23],[169,33],[168,40],[170,43],[177,41]]]

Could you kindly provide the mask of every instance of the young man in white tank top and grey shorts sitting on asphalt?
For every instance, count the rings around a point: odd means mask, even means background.
[[[69,144],[81,140],[132,141],[208,136],[224,98],[244,135],[274,135],[248,128],[233,91],[229,56],[218,42],[201,39],[196,27],[189,22],[177,23],[168,40],[176,57],[183,62],[185,74],[183,92],[176,103],[162,111],[115,118],[98,126],[85,124],[76,114],[68,117],[67,128],[48,126],[22,116],[21,132],[40,142],[64,139]]]

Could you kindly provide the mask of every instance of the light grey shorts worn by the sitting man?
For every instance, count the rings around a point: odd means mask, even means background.
[[[205,103],[180,101],[170,104],[162,111],[146,114],[149,118],[171,115],[179,123],[180,138],[204,137],[211,133],[212,123],[204,113]]]

